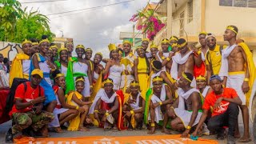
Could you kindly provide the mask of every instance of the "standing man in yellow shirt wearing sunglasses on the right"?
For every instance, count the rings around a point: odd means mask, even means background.
[[[214,34],[208,34],[206,37],[207,46],[209,50],[206,52],[206,70],[207,83],[210,83],[210,77],[219,73],[222,65],[222,50],[221,46],[216,44]]]

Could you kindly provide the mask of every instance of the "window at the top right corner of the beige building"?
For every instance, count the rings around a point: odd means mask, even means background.
[[[256,0],[219,0],[219,6],[256,7]]]

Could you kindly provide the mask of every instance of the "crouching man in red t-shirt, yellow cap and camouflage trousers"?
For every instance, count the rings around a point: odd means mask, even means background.
[[[18,134],[31,126],[34,131],[42,130],[42,136],[48,136],[47,124],[54,119],[54,115],[42,111],[43,102],[46,100],[44,90],[42,86],[39,86],[42,78],[42,70],[34,69],[30,82],[22,83],[17,87],[15,103],[10,111],[10,117],[14,119],[15,123],[12,126],[12,134]]]

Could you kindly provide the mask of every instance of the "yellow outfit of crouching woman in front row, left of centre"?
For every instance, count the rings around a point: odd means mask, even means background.
[[[78,106],[75,102],[72,101],[73,94],[75,94],[78,99],[82,99],[82,94],[79,94],[77,91],[74,91],[66,95],[66,103],[71,106]],[[77,131],[79,124],[80,124],[80,114],[78,114],[78,116],[75,117],[74,119],[70,120],[70,126],[67,128],[67,130]]]

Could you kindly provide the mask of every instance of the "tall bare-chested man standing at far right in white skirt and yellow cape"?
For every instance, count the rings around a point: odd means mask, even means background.
[[[219,75],[224,76],[223,84],[226,87],[231,87],[237,91],[239,98],[242,100],[242,119],[244,123],[244,134],[239,142],[250,142],[249,134],[249,112],[246,106],[246,101],[250,95],[250,82],[252,80],[251,70],[254,70],[254,65],[250,65],[253,62],[249,48],[245,43],[236,44],[236,36],[238,34],[238,28],[236,26],[227,26],[225,30],[224,40],[230,43],[226,49],[222,50],[222,66]],[[238,126],[237,126],[238,128]],[[235,137],[240,137],[239,130],[235,134]]]

